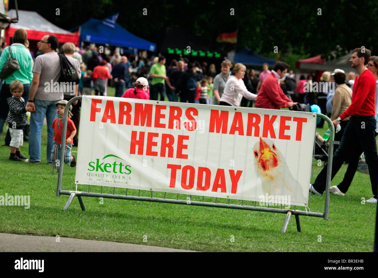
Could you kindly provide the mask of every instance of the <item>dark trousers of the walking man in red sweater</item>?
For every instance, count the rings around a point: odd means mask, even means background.
[[[344,129],[344,135],[341,138],[340,146],[333,155],[331,179],[333,179],[333,177],[335,177],[336,173],[339,171],[341,165],[345,161],[347,154],[353,152],[357,153],[360,148],[365,154],[367,167],[370,173],[372,192],[374,194],[374,197],[376,198],[378,186],[378,155],[376,152],[376,143],[374,136],[375,127],[375,116],[350,117],[349,123]],[[313,188],[315,188],[316,191],[322,194],[325,191],[326,179],[327,167],[325,165],[322,171],[319,173],[318,177],[316,177]]]

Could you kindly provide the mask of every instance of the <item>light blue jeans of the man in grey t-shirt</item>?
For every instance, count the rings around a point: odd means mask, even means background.
[[[58,101],[34,99],[36,111],[31,113],[29,131],[29,161],[31,162],[41,161],[41,132],[45,115],[47,121],[46,158],[47,162],[51,162],[51,150],[53,149],[54,138],[54,129],[51,126],[58,116],[55,106],[55,103]]]

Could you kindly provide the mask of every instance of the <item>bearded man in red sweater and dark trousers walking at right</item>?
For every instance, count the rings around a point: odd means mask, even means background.
[[[344,129],[340,146],[333,155],[332,176],[339,171],[345,157],[354,148],[362,148],[365,154],[366,163],[369,168],[370,182],[374,197],[366,202],[377,202],[378,185],[378,155],[375,142],[375,87],[376,81],[373,73],[367,70],[366,65],[370,60],[370,50],[366,48],[355,48],[352,51],[351,67],[355,68],[358,75],[353,85],[352,104],[332,123],[337,126],[342,120],[350,116],[349,123]],[[359,146],[356,144],[359,144]],[[327,178],[327,167],[324,166],[315,180],[310,185],[310,191],[314,194],[322,194],[325,190]]]

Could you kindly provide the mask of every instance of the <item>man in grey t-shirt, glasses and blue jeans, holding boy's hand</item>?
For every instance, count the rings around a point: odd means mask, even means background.
[[[63,99],[60,90],[60,59],[55,49],[59,42],[56,36],[45,35],[40,40],[39,50],[43,53],[36,58],[33,68],[28,107],[33,108],[30,116],[29,159],[25,162],[39,163],[41,161],[41,132],[43,119],[47,121],[47,163],[51,162],[54,129],[51,127],[57,118],[55,103]]]

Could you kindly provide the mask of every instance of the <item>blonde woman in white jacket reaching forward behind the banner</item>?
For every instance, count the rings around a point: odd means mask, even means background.
[[[243,64],[235,64],[232,67],[231,76],[228,76],[225,90],[220,98],[219,105],[240,106],[243,96],[250,100],[255,100],[255,94],[248,92],[245,87],[243,78],[246,67]]]

